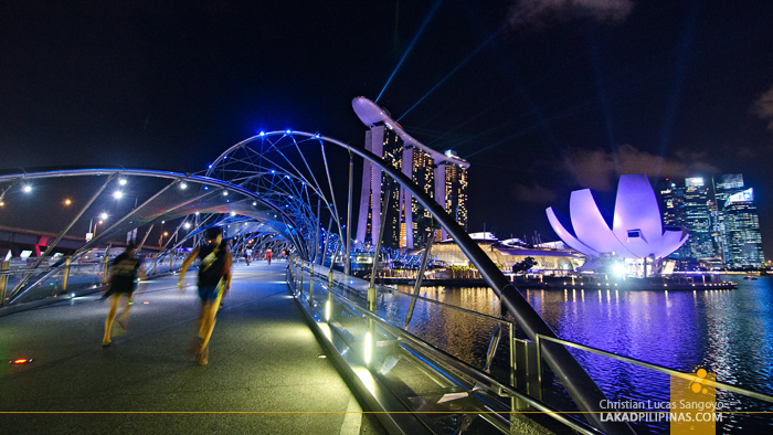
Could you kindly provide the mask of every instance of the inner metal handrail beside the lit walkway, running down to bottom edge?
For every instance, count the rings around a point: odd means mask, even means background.
[[[315,279],[314,276],[310,276],[310,279]],[[322,288],[325,288],[327,291],[332,293],[338,297],[341,301],[349,304],[350,306],[359,307],[356,301],[347,298],[346,296],[330,289],[327,286],[327,282],[320,279],[319,277],[316,278],[317,283],[319,283]],[[293,283],[295,284],[295,283]],[[340,284],[339,284],[340,286]],[[454,306],[451,306],[454,307]],[[458,308],[458,307],[454,307]],[[367,309],[361,309],[358,310],[358,312],[369,319],[372,319],[377,323],[379,323],[381,329],[384,332],[388,332],[392,336],[399,337],[402,339],[403,346],[406,343],[411,343],[415,346],[416,348],[421,349],[425,353],[431,353],[433,356],[434,361],[433,362],[440,362],[440,365],[444,365],[447,370],[455,372],[458,375],[466,376],[468,379],[472,379],[476,385],[485,386],[486,391],[498,395],[498,396],[504,396],[504,397],[516,397],[528,405],[534,407],[537,411],[543,412],[548,415],[550,415],[552,418],[554,418],[558,422],[561,422],[569,427],[571,427],[574,431],[578,431],[579,433],[585,434],[585,435],[600,435],[603,434],[603,432],[599,431],[597,428],[586,425],[585,423],[582,423],[571,416],[569,416],[566,413],[561,412],[543,402],[540,402],[520,391],[515,389],[512,385],[502,383],[495,378],[491,378],[488,373],[481,372],[477,370],[475,367],[469,365],[468,363],[455,358],[452,354],[446,353],[442,349],[438,349],[434,347],[433,344],[430,344],[425,342],[424,340],[417,338],[416,336],[412,335],[411,332],[401,329],[400,327],[396,327],[392,323],[390,323],[386,319],[383,319],[375,315],[372,311],[369,311]],[[474,312],[474,311],[473,311]],[[479,312],[478,312],[479,314]],[[483,316],[483,315],[481,315]],[[518,412],[513,412],[512,410],[510,411],[510,414],[517,414]]]

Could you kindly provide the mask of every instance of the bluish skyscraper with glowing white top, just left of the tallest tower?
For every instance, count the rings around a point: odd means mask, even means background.
[[[711,219],[709,215],[709,188],[701,177],[685,179],[685,227],[690,234],[680,251],[682,261],[698,262],[712,258]]]

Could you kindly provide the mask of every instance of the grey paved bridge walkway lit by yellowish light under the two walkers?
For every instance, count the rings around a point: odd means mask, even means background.
[[[199,314],[195,270],[182,295],[177,276],[138,289],[129,330],[116,323],[105,349],[108,305],[99,295],[0,317],[0,432],[384,433],[318,358],[322,349],[288,296],[286,266],[234,267],[208,367],[186,354]],[[33,362],[9,364],[14,358]]]

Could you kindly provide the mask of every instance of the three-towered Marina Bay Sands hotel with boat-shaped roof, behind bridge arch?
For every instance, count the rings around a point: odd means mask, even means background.
[[[366,149],[383,158],[411,178],[424,192],[444,206],[457,223],[467,230],[467,168],[469,163],[454,151],[438,152],[407,135],[389,113],[375,103],[358,97],[354,112],[370,129]],[[430,236],[445,238],[444,231],[432,233],[431,214],[404,189],[389,183],[389,176],[366,160],[357,224],[357,241],[375,243],[381,226],[381,211],[386,195],[386,223],[382,236],[384,247],[419,248]],[[388,185],[391,184],[391,185]]]

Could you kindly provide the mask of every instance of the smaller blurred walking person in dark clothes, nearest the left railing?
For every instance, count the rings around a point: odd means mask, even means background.
[[[102,338],[102,346],[108,347],[113,342],[113,322],[118,311],[120,299],[126,296],[124,310],[118,317],[118,325],[125,330],[129,327],[129,309],[131,308],[131,298],[136,288],[137,273],[140,279],[145,279],[145,272],[139,268],[137,259],[137,246],[129,243],[126,250],[113,261],[110,270],[109,287],[105,293],[105,297],[110,298],[110,311],[105,319],[105,336]]]

